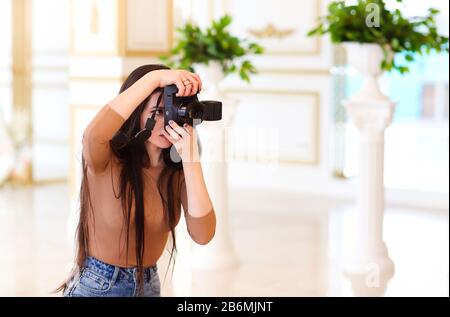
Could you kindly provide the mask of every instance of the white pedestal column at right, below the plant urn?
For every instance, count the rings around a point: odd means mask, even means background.
[[[394,104],[389,100],[346,101],[345,107],[360,132],[359,179],[356,196],[356,237],[346,273],[363,295],[383,293],[394,274],[383,241],[384,132],[391,123]]]

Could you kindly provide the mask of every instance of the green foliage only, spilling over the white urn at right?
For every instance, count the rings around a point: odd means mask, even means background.
[[[437,32],[438,13],[439,10],[430,8],[423,17],[406,18],[399,9],[387,9],[383,0],[358,0],[352,5],[333,1],[328,14],[318,18],[318,25],[308,36],[329,34],[333,43],[375,44],[383,51],[381,69],[403,74],[409,68],[397,63],[394,59],[397,53],[404,53],[406,62],[414,61],[415,53],[429,54],[432,50],[448,53],[448,37]]]

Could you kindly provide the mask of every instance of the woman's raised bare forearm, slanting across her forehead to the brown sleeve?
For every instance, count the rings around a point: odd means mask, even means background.
[[[158,87],[159,80],[156,76],[151,72],[147,73],[108,104],[122,118],[127,120],[137,106]]]

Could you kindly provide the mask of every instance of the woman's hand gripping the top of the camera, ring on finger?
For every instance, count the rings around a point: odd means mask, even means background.
[[[187,70],[159,69],[149,74],[155,76],[161,88],[175,84],[178,88],[177,97],[193,96],[202,90],[200,76]]]

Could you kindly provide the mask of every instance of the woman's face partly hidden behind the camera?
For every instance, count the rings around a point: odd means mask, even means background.
[[[147,119],[151,117],[155,111],[157,111],[155,116],[156,124],[153,128],[152,136],[148,138],[146,142],[150,142],[161,149],[167,149],[172,145],[172,143],[170,143],[161,132],[161,130],[164,129],[164,102],[162,98],[158,107],[156,105],[160,94],[161,93],[154,93],[145,106],[144,112],[142,112],[141,115],[141,130],[144,129]]]

